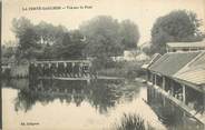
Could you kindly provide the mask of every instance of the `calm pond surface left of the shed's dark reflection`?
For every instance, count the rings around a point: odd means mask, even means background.
[[[162,106],[153,103],[152,93],[149,90],[147,94],[145,84],[128,81],[6,81],[3,127],[9,130],[113,130],[124,113],[137,113],[156,130],[176,129],[175,122],[157,112]],[[144,101],[147,96],[148,103]]]

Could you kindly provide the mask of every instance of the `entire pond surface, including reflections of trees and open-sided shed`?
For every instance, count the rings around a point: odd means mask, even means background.
[[[113,124],[123,113],[130,112],[141,114],[155,128],[162,127],[163,122],[169,130],[203,129],[196,120],[157,91],[137,82],[11,80],[3,86],[9,87],[3,89],[3,97],[7,100],[3,104],[7,109],[3,111],[9,114],[7,121],[18,120],[13,126],[19,128],[21,128],[19,121],[38,120],[42,128],[52,121],[53,126],[64,123],[62,127],[71,126],[70,129],[96,127],[92,129],[101,130]],[[141,98],[147,99],[150,107]],[[58,114],[51,114],[56,110]],[[36,116],[42,117],[39,119]]]

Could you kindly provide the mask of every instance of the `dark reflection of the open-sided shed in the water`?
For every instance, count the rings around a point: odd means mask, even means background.
[[[154,88],[147,88],[147,101],[169,130],[204,130],[203,124],[176,107]]]

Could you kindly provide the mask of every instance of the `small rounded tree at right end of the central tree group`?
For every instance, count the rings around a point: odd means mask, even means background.
[[[136,49],[139,40],[138,27],[130,20],[120,23],[119,34],[125,50]]]

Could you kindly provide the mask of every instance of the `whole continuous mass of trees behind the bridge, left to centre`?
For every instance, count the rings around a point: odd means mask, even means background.
[[[33,24],[27,18],[13,19],[12,31],[18,38],[16,58],[85,59],[96,58],[99,66],[111,67],[111,57],[134,49],[139,39],[137,26],[125,20],[119,23],[107,16],[96,17],[82,23],[79,30],[67,30],[41,21]],[[101,60],[101,61],[100,61]]]

